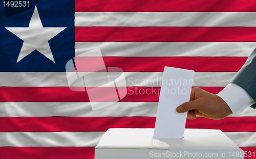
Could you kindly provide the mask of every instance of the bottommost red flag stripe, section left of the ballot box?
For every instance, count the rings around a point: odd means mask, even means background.
[[[0,158],[94,159],[94,147],[0,147]]]

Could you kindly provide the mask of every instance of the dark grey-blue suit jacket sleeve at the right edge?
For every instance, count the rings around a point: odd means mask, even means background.
[[[256,101],[256,48],[230,83],[242,87]],[[256,108],[256,104],[250,106]]]

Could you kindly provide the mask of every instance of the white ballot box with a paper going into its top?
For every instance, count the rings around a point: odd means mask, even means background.
[[[244,158],[221,130],[185,129],[183,139],[153,139],[153,134],[154,128],[110,128],[95,147],[95,159]]]

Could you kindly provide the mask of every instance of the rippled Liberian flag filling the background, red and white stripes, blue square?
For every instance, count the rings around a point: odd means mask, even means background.
[[[256,47],[255,1],[41,0],[10,16],[6,7],[0,7],[1,159],[92,159],[108,128],[155,127],[164,66],[195,70],[194,87],[217,94]],[[66,64],[96,48],[105,67],[124,71],[127,94],[92,111],[87,92],[69,88]],[[187,120],[186,128],[221,129],[254,152],[255,116],[248,108],[223,120]]]

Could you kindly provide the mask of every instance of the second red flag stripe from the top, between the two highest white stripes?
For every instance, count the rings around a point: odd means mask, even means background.
[[[75,27],[75,41],[256,41],[256,27]]]

